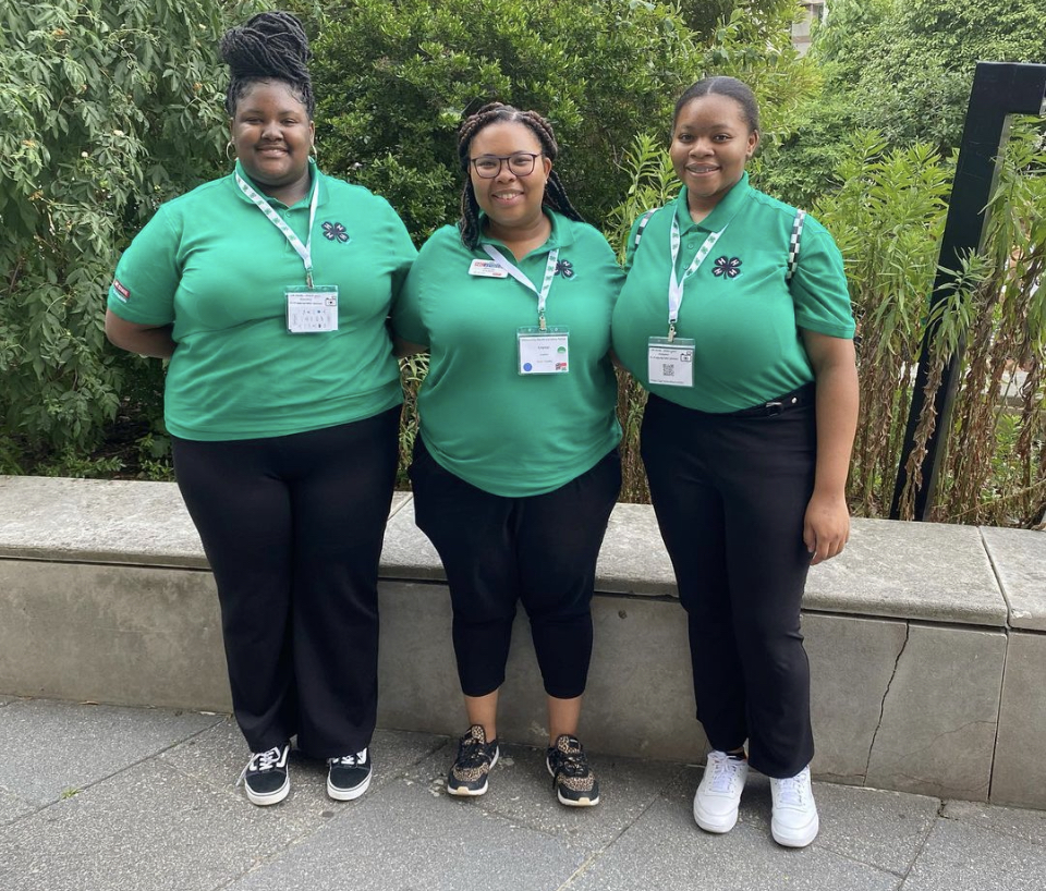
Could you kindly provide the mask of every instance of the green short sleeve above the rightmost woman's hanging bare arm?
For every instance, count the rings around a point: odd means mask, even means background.
[[[798,327],[832,338],[853,337],[853,312],[842,254],[828,230],[810,217],[790,288]]]

